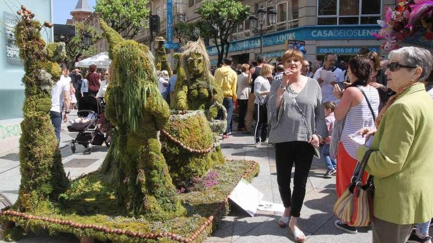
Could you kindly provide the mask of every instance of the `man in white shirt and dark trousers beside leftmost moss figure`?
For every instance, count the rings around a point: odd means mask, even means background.
[[[67,121],[69,114],[70,101],[70,82],[69,70],[65,65],[62,65],[62,76],[60,80],[51,89],[51,109],[50,118],[54,126],[57,139],[60,142],[60,129],[62,127],[62,110],[64,108],[63,121]]]

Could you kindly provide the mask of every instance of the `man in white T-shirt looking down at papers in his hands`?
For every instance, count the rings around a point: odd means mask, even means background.
[[[337,99],[334,97],[332,91],[334,89],[334,82],[329,83],[325,80],[323,80],[320,77],[320,71],[321,70],[326,70],[326,71],[331,71],[334,73],[335,75],[335,82],[344,82],[344,76],[343,76],[343,71],[335,66],[335,63],[337,62],[337,55],[333,54],[333,53],[327,53],[325,54],[325,66],[321,67],[319,69],[317,69],[316,73],[314,74],[313,79],[317,80],[320,84],[320,86],[322,87],[322,103],[326,103],[329,101],[336,101]]]

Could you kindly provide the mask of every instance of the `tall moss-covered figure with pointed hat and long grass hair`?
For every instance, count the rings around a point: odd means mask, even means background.
[[[169,108],[157,88],[156,69],[149,49],[124,40],[101,21],[110,46],[111,83],[105,109],[116,125],[113,154],[119,160],[117,199],[131,216],[161,219],[186,213],[161,154],[158,131]]]

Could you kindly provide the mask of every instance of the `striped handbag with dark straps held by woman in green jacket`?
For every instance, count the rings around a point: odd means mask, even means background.
[[[373,176],[362,185],[362,175],[372,150],[369,149],[358,162],[352,181],[334,205],[334,214],[351,226],[369,226],[373,220]]]

